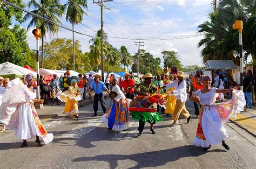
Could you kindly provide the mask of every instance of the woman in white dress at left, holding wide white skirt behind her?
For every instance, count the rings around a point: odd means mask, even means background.
[[[52,141],[53,135],[44,129],[33,105],[33,103],[43,104],[43,100],[35,100],[36,92],[32,87],[33,75],[26,75],[25,80],[28,86],[14,85],[4,94],[0,121],[13,129],[18,138],[23,139],[21,147],[27,146],[26,139],[33,137],[36,137],[36,143],[42,146],[39,138],[48,144]]]

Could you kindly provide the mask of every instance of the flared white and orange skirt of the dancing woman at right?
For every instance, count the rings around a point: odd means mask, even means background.
[[[205,105],[201,108],[197,134],[193,145],[208,147],[225,140],[228,135],[224,124],[244,109],[246,104],[242,91],[233,91],[233,97],[224,103]],[[203,110],[203,111],[202,111]]]

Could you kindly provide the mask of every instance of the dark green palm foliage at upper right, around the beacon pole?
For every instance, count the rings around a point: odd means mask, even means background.
[[[255,62],[256,52],[256,4],[253,0],[221,0],[217,11],[210,13],[211,22],[199,25],[199,32],[205,37],[198,46],[203,46],[201,55],[204,64],[207,60],[231,59],[239,65],[239,38],[238,31],[232,29],[235,20],[242,20],[242,40],[244,61],[249,55]]]

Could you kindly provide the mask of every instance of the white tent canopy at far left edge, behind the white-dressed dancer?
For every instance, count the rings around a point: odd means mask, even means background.
[[[30,71],[29,69],[10,62],[0,64],[0,76],[3,78],[22,78],[23,75],[27,75],[29,73],[32,73],[35,78],[37,77],[36,72]]]

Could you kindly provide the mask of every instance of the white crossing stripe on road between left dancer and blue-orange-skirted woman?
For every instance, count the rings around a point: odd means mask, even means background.
[[[71,131],[64,133],[60,138],[81,138],[100,124],[102,124],[100,119],[89,119],[85,124],[81,124]]]

